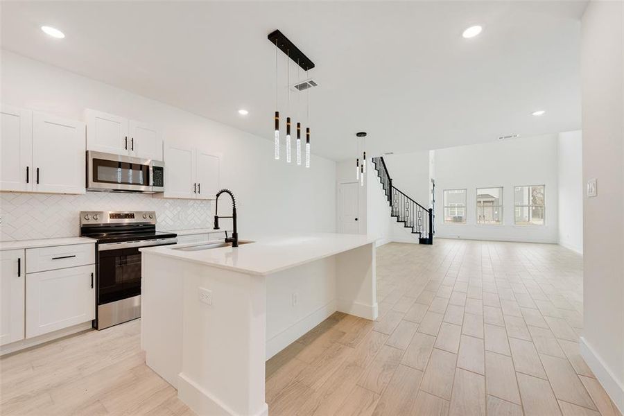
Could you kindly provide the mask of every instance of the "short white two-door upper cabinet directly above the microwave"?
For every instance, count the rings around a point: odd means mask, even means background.
[[[162,160],[157,128],[97,110],[85,110],[87,150]]]

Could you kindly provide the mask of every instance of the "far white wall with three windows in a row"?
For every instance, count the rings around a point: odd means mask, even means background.
[[[546,185],[546,224],[514,225],[514,187]],[[503,187],[503,225],[476,224],[476,189]],[[467,223],[444,224],[444,189],[467,189]],[[557,243],[557,135],[435,150],[435,236]]]

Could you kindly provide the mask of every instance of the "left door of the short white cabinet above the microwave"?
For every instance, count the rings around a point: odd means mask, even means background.
[[[87,150],[128,155],[128,120],[97,110],[85,110]]]

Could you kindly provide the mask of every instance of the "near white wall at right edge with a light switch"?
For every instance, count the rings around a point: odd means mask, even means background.
[[[590,1],[581,26],[584,329],[581,352],[624,413],[624,3]]]

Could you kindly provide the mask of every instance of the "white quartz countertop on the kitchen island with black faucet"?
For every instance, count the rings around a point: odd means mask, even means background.
[[[244,237],[239,241],[254,242],[239,245],[238,248],[223,247],[198,251],[182,251],[175,250],[175,248],[200,245],[200,243],[163,245],[139,250],[205,266],[265,276],[374,243],[376,240],[375,236],[370,235],[329,233]]]

